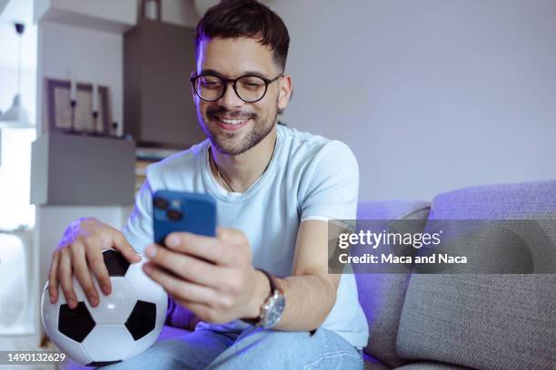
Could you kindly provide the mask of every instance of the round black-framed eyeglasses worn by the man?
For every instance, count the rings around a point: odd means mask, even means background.
[[[206,102],[214,102],[223,97],[226,93],[228,83],[232,83],[233,91],[243,102],[258,102],[263,99],[268,85],[278,80],[283,73],[278,74],[269,80],[253,74],[245,74],[236,79],[222,78],[214,74],[192,73],[191,83],[194,90],[201,99]]]

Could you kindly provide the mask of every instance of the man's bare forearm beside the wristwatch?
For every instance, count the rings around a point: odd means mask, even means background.
[[[258,290],[263,302],[268,297],[270,288],[268,280],[259,274]],[[285,308],[283,316],[275,330],[307,331],[321,326],[336,301],[336,288],[330,278],[319,275],[303,275],[277,278],[277,284],[283,290]],[[263,298],[263,299],[262,299]]]

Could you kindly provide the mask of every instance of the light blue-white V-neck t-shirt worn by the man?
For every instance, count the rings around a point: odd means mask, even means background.
[[[355,219],[359,169],[352,151],[341,141],[282,125],[277,125],[276,131],[276,147],[267,170],[243,193],[224,190],[214,179],[208,161],[208,139],[149,166],[124,229],[130,244],[142,252],[153,242],[154,191],[209,193],[216,200],[217,225],[240,229],[249,239],[255,268],[282,277],[292,275],[302,221]],[[201,325],[213,330],[245,326],[240,320]],[[336,303],[323,327],[343,336],[352,346],[367,345],[368,326],[352,274],[342,276]]]

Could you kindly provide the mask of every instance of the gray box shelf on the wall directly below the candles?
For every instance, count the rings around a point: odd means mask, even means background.
[[[32,204],[134,204],[134,141],[48,132],[33,142],[32,157]]]

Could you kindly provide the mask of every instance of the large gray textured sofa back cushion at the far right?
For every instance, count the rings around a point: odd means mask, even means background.
[[[544,219],[556,240],[556,181],[437,196],[430,219]],[[413,275],[399,355],[477,369],[556,367],[556,275]]]

